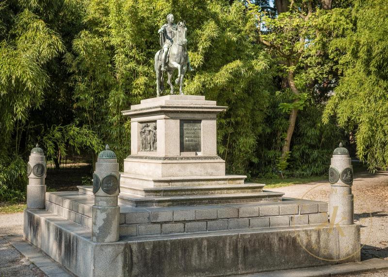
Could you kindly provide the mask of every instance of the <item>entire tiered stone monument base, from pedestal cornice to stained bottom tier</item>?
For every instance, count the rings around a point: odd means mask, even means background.
[[[100,181],[96,169],[94,186],[47,193],[45,210],[25,211],[25,238],[82,277],[230,276],[359,261],[359,226],[329,223],[327,203],[225,174],[216,143],[225,109],[170,95],[123,111],[131,117],[124,172],[106,148],[99,174],[117,176]],[[92,240],[112,227],[110,243]]]

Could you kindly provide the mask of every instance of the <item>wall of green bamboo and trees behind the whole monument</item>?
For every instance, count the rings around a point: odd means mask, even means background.
[[[22,199],[22,159],[38,141],[56,163],[68,152],[95,156],[109,144],[122,169],[130,122],[121,111],[155,96],[157,30],[169,13],[185,20],[189,31],[195,71],[185,76],[185,94],[228,106],[217,121],[218,153],[228,173],[323,174],[344,129],[357,131],[357,154],[372,167],[387,164],[387,22],[386,16],[372,18],[387,12],[376,10],[379,1],[368,0],[368,9],[358,0],[334,1],[330,11],[312,1],[307,20],[306,0],[280,15],[259,8],[266,0],[2,1],[2,182],[14,178],[2,189],[12,193],[3,197]],[[291,148],[281,157],[295,109]]]

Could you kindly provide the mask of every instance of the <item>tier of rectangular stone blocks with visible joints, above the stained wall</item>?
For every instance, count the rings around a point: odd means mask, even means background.
[[[91,228],[94,196],[79,192],[46,194],[46,209]],[[134,208],[120,206],[120,236],[142,237],[172,233],[252,228],[294,228],[328,222],[327,203],[285,198],[279,202]]]

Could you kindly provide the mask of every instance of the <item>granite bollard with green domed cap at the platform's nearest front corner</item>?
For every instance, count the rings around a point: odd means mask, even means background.
[[[96,171],[93,174],[92,241],[116,242],[119,239],[120,207],[117,196],[120,193],[120,174],[116,155],[106,145],[98,154]]]

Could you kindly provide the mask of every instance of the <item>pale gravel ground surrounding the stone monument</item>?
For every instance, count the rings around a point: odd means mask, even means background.
[[[286,193],[286,197],[328,201],[330,184],[314,182],[288,187],[271,188]],[[361,259],[388,260],[388,171],[371,175],[357,174],[353,183],[355,195],[355,221],[361,225]],[[23,213],[0,214],[0,277],[45,276],[30,264],[2,236],[22,235]],[[388,270],[376,273],[346,275],[343,277],[385,277]]]

